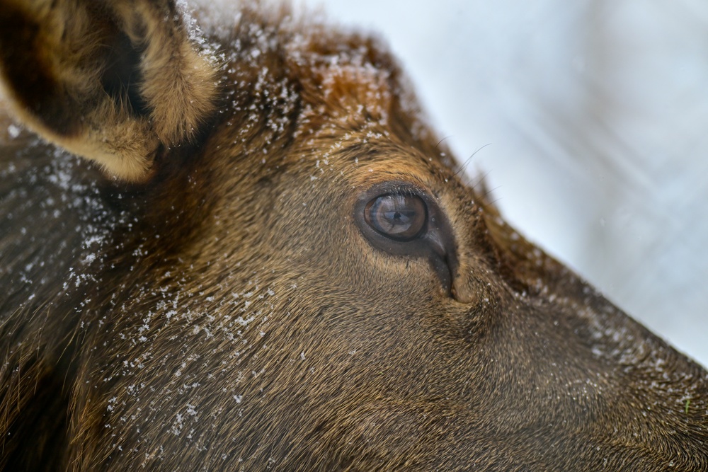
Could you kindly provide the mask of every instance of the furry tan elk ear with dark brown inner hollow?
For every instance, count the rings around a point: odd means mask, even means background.
[[[0,0],[0,82],[18,117],[109,174],[147,180],[195,137],[216,67],[173,0]]]

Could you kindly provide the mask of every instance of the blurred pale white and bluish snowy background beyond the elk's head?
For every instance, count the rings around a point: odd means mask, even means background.
[[[707,1],[303,2],[377,31],[507,219],[708,366]]]

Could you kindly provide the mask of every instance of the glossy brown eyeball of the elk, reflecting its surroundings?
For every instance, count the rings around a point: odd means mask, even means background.
[[[428,209],[423,199],[416,195],[381,195],[366,205],[364,219],[387,238],[412,241],[423,233]]]

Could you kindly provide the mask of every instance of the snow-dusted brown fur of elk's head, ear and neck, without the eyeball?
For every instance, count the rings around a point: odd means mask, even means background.
[[[0,2],[10,108],[133,182],[3,138],[2,470],[708,470],[708,374],[462,182],[381,45],[234,8],[200,50],[169,1]]]

